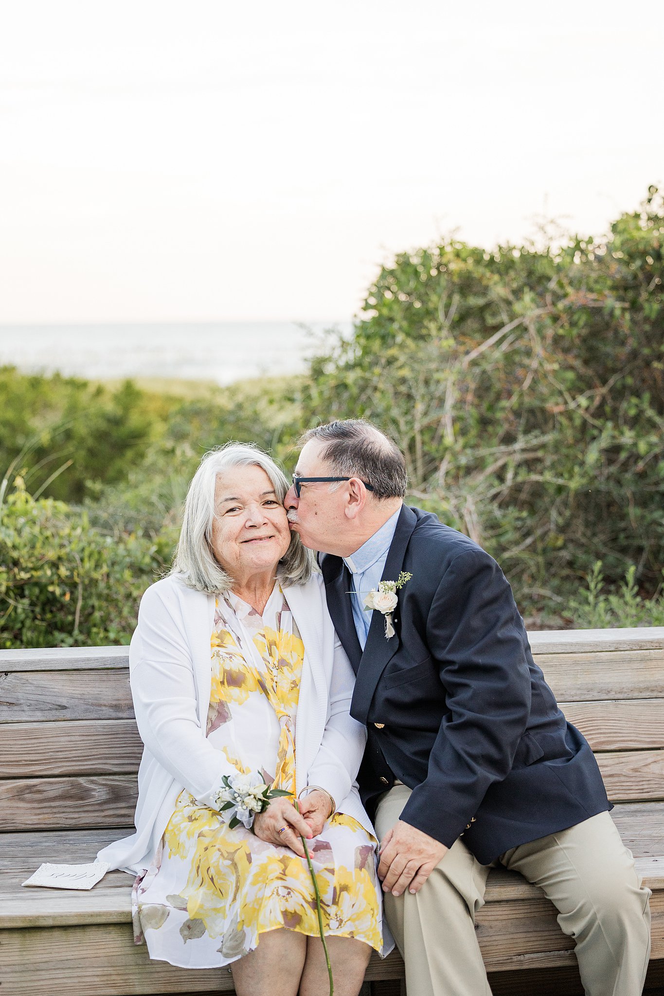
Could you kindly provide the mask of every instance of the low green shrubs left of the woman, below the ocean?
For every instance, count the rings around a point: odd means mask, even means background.
[[[299,426],[283,380],[183,399],[130,383],[111,392],[58,375],[0,375],[11,400],[3,458],[25,470],[0,485],[0,647],[128,642],[140,596],[170,563],[202,454],[229,438],[290,445]],[[67,421],[75,401],[85,418]],[[43,453],[65,438],[57,458],[74,463],[49,484]]]

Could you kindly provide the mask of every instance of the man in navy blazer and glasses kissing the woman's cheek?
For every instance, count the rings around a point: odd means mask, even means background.
[[[374,426],[332,422],[303,441],[285,504],[291,528],[322,552],[355,670],[350,711],[369,731],[360,791],[408,992],[490,994],[474,916],[500,863],[552,899],[589,996],[638,996],[649,890],[502,571],[403,504],[403,457]]]

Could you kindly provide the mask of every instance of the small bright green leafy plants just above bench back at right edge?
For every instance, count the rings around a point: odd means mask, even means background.
[[[588,629],[664,625],[664,592],[654,599],[642,599],[634,582],[636,567],[633,564],[617,590],[606,592],[601,568],[601,561],[597,561],[580,598],[570,603],[574,625]]]

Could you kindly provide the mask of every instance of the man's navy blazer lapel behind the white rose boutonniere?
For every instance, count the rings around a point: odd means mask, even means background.
[[[417,518],[415,513],[407,505],[403,505],[401,507],[401,514],[396,521],[396,529],[394,530],[394,536],[392,537],[392,542],[387,553],[387,560],[385,561],[381,581],[396,581],[399,577],[408,541],[416,523]],[[349,597],[347,597],[347,602],[349,607]],[[385,617],[382,613],[374,610],[371,617],[364,652],[359,661],[359,666],[355,668],[357,680],[350,705],[352,716],[360,723],[366,723],[371,699],[373,698],[380,675],[390,658],[394,656],[399,648],[399,611],[400,607],[397,605],[393,614],[393,621],[396,623],[394,627],[395,634],[390,636],[389,639],[385,636]],[[351,611],[350,620],[352,622]]]

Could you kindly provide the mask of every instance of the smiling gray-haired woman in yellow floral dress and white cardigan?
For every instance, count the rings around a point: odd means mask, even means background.
[[[203,458],[173,569],[143,596],[131,640],[136,833],[99,857],[137,873],[134,926],[151,958],[230,965],[239,996],[320,996],[308,838],[335,992],[355,996],[382,947],[376,841],[354,786],[365,733],[287,490],[253,446]],[[254,815],[225,808],[229,782],[284,795]]]

